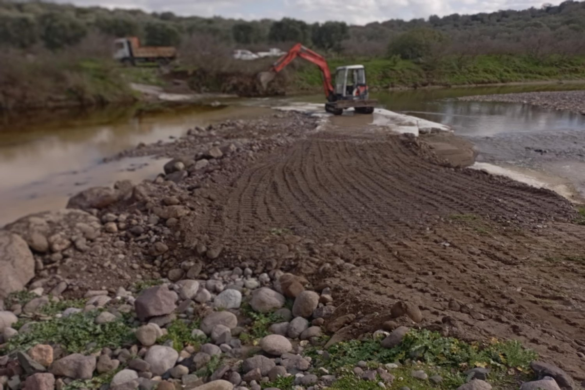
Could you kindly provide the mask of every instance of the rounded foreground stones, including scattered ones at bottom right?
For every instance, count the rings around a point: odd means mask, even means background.
[[[55,316],[85,312],[96,313],[97,324],[126,321],[133,326],[135,340],[97,351],[90,343],[87,351],[73,354],[66,353],[66,346],[51,343],[35,344],[26,351],[8,351],[8,355],[0,357],[0,390],[95,388],[104,378],[104,389],[117,390],[260,390],[279,378],[291,378],[297,390],[317,390],[339,379],[337,372],[315,365],[305,355],[306,348],[313,346],[321,358],[335,359],[329,356],[328,345],[324,346],[321,337],[325,329],[338,322],[330,321],[335,306],[329,288],[320,293],[310,291],[302,277],[279,270],[254,274],[246,264],[209,277],[200,272],[201,264],[194,264],[185,272],[189,279],[167,281],[137,294],[123,288],[113,296],[108,291],[87,292],[84,309],[68,308]],[[39,311],[57,298],[43,295],[42,289],[37,289],[36,294],[40,294],[39,298],[24,307],[14,305],[11,311],[0,312],[0,343],[14,337],[18,340],[19,333],[33,331],[31,323],[14,329],[19,319],[48,319],[39,317]],[[254,316],[270,315],[275,319],[270,326],[264,323],[266,329],[261,330],[266,334],[252,342],[242,337],[257,326],[250,310],[256,313]],[[391,312],[395,317],[421,319],[418,308],[406,302],[398,302]],[[179,346],[173,337],[165,337],[178,321],[192,327],[191,337]],[[195,323],[197,327],[192,326]],[[409,331],[395,323],[384,327],[394,329],[391,333],[378,330],[373,334],[384,348],[400,346]],[[371,362],[360,361],[349,375],[387,388],[402,380],[393,374],[398,367],[398,362],[381,362],[373,367]],[[443,381],[439,375],[429,375],[415,367],[412,378],[429,385]],[[560,368],[540,362],[531,367],[538,380],[526,382],[521,390],[573,389],[572,379]],[[491,389],[489,370],[474,368],[465,374],[468,382],[458,390]]]

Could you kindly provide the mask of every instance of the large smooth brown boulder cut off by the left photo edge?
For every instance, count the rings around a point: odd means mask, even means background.
[[[0,230],[0,299],[20,291],[35,277],[35,258],[18,234]]]

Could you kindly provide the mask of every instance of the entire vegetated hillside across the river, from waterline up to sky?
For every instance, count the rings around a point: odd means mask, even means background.
[[[128,72],[111,60],[115,37],[177,46],[181,70],[197,72],[190,85],[229,92],[238,88],[224,85],[233,80],[226,75],[253,75],[271,62],[234,61],[233,49],[286,50],[296,42],[325,54],[332,67],[363,63],[377,88],[580,79],[584,31],[585,2],[576,1],[348,26],[0,0],[0,109],[133,99],[124,87]],[[310,64],[295,64],[284,79],[289,91],[321,84]]]

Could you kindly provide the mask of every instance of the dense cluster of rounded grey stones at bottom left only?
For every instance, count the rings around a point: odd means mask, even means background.
[[[188,275],[198,276],[201,265],[193,265]],[[62,389],[75,380],[115,374],[109,384],[119,389],[184,388],[232,389],[234,386],[260,389],[260,382],[275,380],[279,375],[296,375],[302,385],[316,384],[318,378],[308,374],[310,358],[300,355],[309,342],[318,343],[326,317],[335,309],[328,289],[321,294],[305,290],[307,281],[281,271],[254,275],[250,268],[218,272],[208,279],[181,279],[148,288],[137,296],[119,288],[115,296],[108,291],[90,291],[85,309],[69,308],[57,316],[101,310],[96,323],[121,320],[122,313],[132,312],[137,344],[103,348],[98,353],[64,353],[63,346],[37,344],[28,351],[11,351],[0,358],[0,384],[10,390]],[[287,297],[294,299],[285,308]],[[35,301],[34,303],[31,303]],[[49,302],[46,295],[33,299],[24,308],[0,312],[0,333],[8,341],[19,332],[11,326],[34,315]],[[259,340],[260,348],[243,345],[239,334],[250,327],[242,303],[257,313],[275,313],[281,321]],[[187,324],[201,319],[192,330],[191,345],[175,350],[173,343],[158,343],[174,321]],[[309,322],[310,320],[310,322]],[[163,338],[164,339],[164,338]],[[198,341],[202,345],[197,348]],[[0,340],[1,342],[2,340]],[[253,357],[247,357],[251,353]],[[212,372],[195,374],[218,357],[221,364]],[[120,368],[123,367],[122,370]],[[331,378],[327,379],[331,380]]]

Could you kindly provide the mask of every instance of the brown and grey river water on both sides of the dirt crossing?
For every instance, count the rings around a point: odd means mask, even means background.
[[[565,175],[573,178],[567,180],[574,187],[585,191],[585,178],[579,168],[585,164],[579,156],[585,145],[585,116],[521,104],[455,99],[466,95],[583,88],[583,84],[564,84],[426,89],[377,93],[374,97],[390,110],[451,126],[456,134],[476,144],[479,161]],[[165,161],[149,157],[102,163],[105,157],[123,149],[140,142],[169,141],[194,126],[253,118],[270,112],[269,106],[291,101],[321,102],[322,96],[228,99],[219,107],[195,106],[148,115],[136,115],[132,109],[109,108],[5,118],[0,123],[0,226],[28,213],[63,207],[69,196],[84,188],[111,185],[122,179],[140,181],[161,172]],[[562,150],[566,149],[563,141],[558,141],[565,139],[566,134],[571,134],[570,142],[577,145],[569,153]],[[510,137],[514,137],[513,141]],[[532,150],[555,153],[547,154],[546,161],[539,160],[545,153],[526,156],[529,153],[524,146],[526,137]]]

